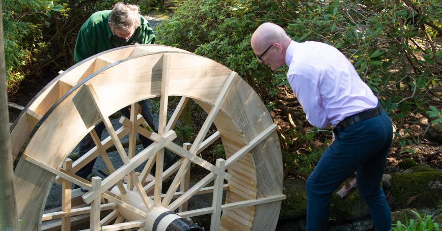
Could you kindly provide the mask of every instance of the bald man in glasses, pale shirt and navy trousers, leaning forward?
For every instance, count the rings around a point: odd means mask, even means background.
[[[310,124],[334,127],[335,141],[306,182],[307,230],[326,230],[332,193],[355,171],[359,195],[370,208],[376,230],[390,230],[390,208],[380,181],[392,124],[369,86],[339,50],[320,42],[292,41],[279,25],[261,24],[251,45],[258,62],[271,70],[289,67],[287,79]]]

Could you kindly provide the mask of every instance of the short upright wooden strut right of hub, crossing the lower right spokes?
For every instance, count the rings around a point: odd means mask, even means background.
[[[226,160],[217,159],[216,167],[224,169],[226,166]],[[219,221],[221,219],[221,205],[223,204],[223,184],[224,184],[224,171],[220,171],[215,178],[213,185],[213,201],[212,201],[212,217],[210,219],[210,230],[219,230]]]

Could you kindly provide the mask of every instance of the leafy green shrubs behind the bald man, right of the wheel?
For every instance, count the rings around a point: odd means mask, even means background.
[[[422,114],[429,121],[440,117],[441,15],[440,2],[432,0],[183,1],[156,34],[158,43],[209,57],[238,72],[274,118],[283,121],[280,125],[289,124],[278,130],[286,170],[311,170],[329,142],[318,147],[312,140],[330,138],[330,132],[316,132],[305,122],[296,99],[288,94],[285,69],[272,73],[258,64],[250,47],[254,30],[274,22],[295,41],[321,41],[340,49],[390,114],[403,151],[412,152],[406,145],[422,137],[403,135],[410,116]],[[430,105],[431,118],[426,113]],[[300,152],[312,158],[302,160],[306,158]]]

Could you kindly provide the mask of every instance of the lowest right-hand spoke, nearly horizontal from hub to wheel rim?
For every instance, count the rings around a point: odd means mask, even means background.
[[[280,200],[284,200],[284,199],[286,199],[286,195],[278,194],[278,195],[267,196],[267,197],[262,197],[262,198],[258,198],[258,199],[236,201],[233,203],[222,205],[221,211],[224,212],[227,210],[232,210],[232,209],[237,209],[237,208],[267,204],[267,203],[272,203],[274,201],[280,201]],[[197,209],[197,210],[180,212],[177,214],[183,218],[186,218],[186,217],[195,217],[195,216],[210,214],[212,212],[213,212],[213,207],[208,207],[208,208],[202,208],[202,209]]]

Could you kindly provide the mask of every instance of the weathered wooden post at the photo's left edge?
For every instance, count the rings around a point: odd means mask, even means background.
[[[2,13],[0,0],[0,14]],[[3,17],[0,17],[0,230],[19,230],[15,203],[12,148],[9,136],[8,95],[6,94],[5,47],[3,43]]]

